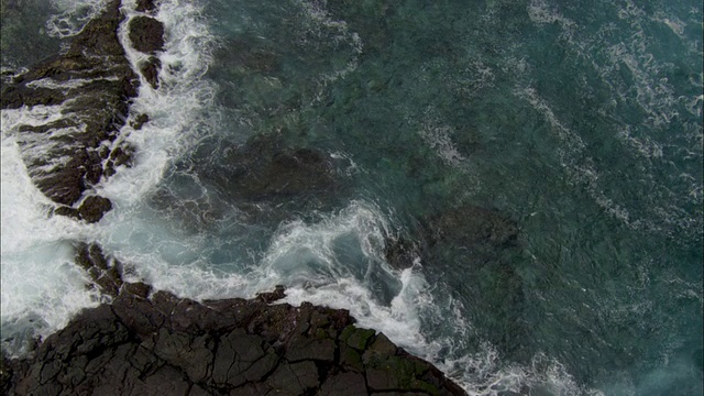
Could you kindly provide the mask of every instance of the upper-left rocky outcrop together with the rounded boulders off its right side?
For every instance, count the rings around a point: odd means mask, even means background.
[[[30,177],[56,204],[54,212],[87,222],[99,221],[112,208],[92,187],[132,162],[133,148],[124,143],[122,128],[140,78],[118,36],[124,21],[120,7],[120,0],[110,1],[64,53],[2,86],[2,109],[59,107],[59,119],[18,125],[18,143]],[[154,4],[142,4],[141,10],[153,11]],[[148,54],[162,50],[161,22],[146,14],[131,22],[129,36],[136,50]],[[158,85],[158,62],[141,66],[152,86]],[[135,120],[143,123],[144,117]]]

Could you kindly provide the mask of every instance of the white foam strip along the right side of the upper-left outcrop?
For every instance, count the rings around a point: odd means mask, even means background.
[[[125,26],[140,13],[130,3],[125,3],[123,12],[127,19],[118,34],[128,59],[134,69],[139,69],[145,55],[131,47]],[[145,113],[150,122],[140,131],[134,131],[128,122],[117,142],[127,141],[138,147],[136,165],[121,169],[101,186],[101,194],[118,207],[139,206],[162,179],[172,161],[187,153],[208,133],[217,131],[216,116],[209,113],[213,108],[216,88],[202,78],[212,61],[213,37],[201,12],[197,3],[174,0],[161,2],[154,15],[165,26],[165,50],[158,54],[162,62],[161,86],[153,89],[141,77],[140,95],[134,99],[130,118]]]

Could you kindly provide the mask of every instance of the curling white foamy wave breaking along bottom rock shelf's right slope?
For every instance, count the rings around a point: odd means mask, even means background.
[[[506,364],[488,343],[476,354],[466,353],[465,342],[472,337],[463,314],[468,307],[444,294],[441,286],[428,284],[419,258],[403,271],[387,266],[384,235],[391,228],[380,209],[364,201],[354,201],[315,223],[292,221],[273,238],[250,282],[261,290],[286,285],[284,302],[309,301],[350,310],[358,326],[383,332],[399,346],[435,363],[470,395],[518,392],[524,385],[540,386],[556,395],[602,395],[578,386],[562,364],[543,354],[537,354],[530,366],[521,366]],[[350,255],[349,250],[340,253],[343,239],[359,256]],[[374,271],[385,274],[387,284],[400,284],[391,301],[374,292],[377,288],[369,276]],[[428,338],[438,327],[448,333]]]

